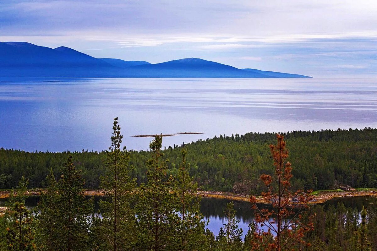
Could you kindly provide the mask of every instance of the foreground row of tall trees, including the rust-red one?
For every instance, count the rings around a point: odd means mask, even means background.
[[[232,202],[225,208],[218,236],[208,230],[199,211],[200,197],[194,196],[197,183],[186,161],[189,151],[181,150],[181,161],[172,172],[165,155],[169,150],[161,149],[162,137],[156,136],[144,163],[146,182],[138,185],[130,175],[135,170],[133,152],[121,147],[122,139],[115,118],[100,176],[99,187],[106,191],[106,198],[100,201],[98,212],[93,212],[94,198],[84,196],[87,181],[72,155],[58,175],[50,168],[33,211],[25,207],[29,180],[21,176],[0,217],[0,250],[375,250],[375,208],[363,208],[359,219],[358,212],[344,205],[326,211],[321,206],[311,209],[306,204],[310,191],[293,192],[294,169],[287,161],[284,135],[278,134],[277,145],[269,146],[272,174],[260,177],[265,186],[262,197],[273,209],[258,205],[252,196],[250,202],[258,213],[245,237]],[[260,228],[264,224],[267,231]]]

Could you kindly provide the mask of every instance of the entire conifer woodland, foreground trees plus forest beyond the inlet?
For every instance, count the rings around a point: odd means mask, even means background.
[[[104,152],[1,149],[1,188],[15,189],[0,217],[0,250],[377,248],[376,207],[307,204],[311,191],[336,184],[376,187],[376,129],[221,135],[164,149],[156,136],[149,151],[127,151],[122,140],[115,118]],[[41,188],[32,210],[28,188]],[[85,188],[106,192],[99,211]],[[215,236],[199,210],[198,188],[252,195],[256,214],[247,233],[230,202]],[[258,204],[257,194],[271,208]]]

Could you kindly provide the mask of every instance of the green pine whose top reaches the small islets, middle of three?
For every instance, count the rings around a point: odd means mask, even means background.
[[[140,187],[138,220],[142,250],[169,251],[180,246],[178,200],[172,176],[167,177],[168,160],[162,160],[162,135],[150,142],[152,158],[147,161],[147,184]]]

